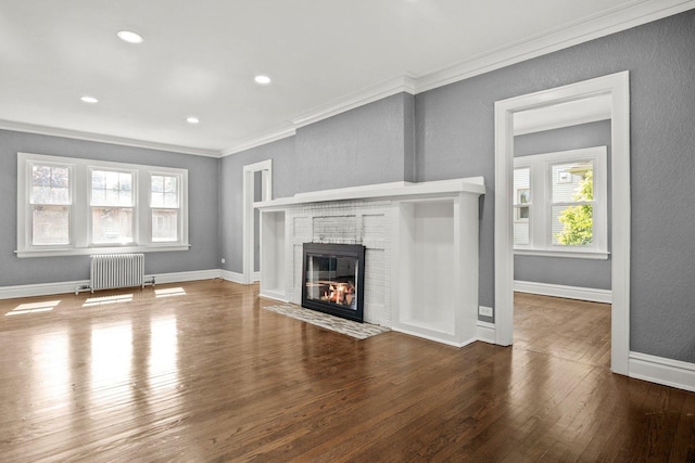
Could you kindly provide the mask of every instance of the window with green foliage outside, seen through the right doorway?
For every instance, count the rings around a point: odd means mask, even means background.
[[[607,258],[607,159],[597,146],[514,159],[516,254]]]

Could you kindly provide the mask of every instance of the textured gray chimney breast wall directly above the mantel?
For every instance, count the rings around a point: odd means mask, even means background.
[[[296,192],[412,179],[413,117],[413,95],[399,93],[300,128]]]

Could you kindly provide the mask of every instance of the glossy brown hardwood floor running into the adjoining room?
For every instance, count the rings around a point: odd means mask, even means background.
[[[219,280],[94,296],[0,301],[0,461],[695,461],[695,394],[611,374],[606,306],[456,349]]]

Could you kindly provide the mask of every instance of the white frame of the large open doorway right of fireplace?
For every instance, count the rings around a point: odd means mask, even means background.
[[[495,342],[514,338],[514,113],[611,95],[610,368],[627,375],[630,356],[630,76],[622,72],[495,103]]]

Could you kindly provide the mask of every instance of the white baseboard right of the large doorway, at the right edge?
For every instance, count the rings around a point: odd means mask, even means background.
[[[630,352],[629,376],[695,393],[695,363]]]

